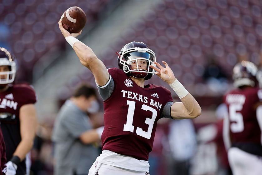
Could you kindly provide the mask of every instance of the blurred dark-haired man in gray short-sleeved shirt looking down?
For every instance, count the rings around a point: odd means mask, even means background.
[[[99,155],[92,143],[101,140],[103,127],[92,129],[87,116],[95,103],[95,88],[84,84],[61,107],[52,133],[55,175],[87,175]]]

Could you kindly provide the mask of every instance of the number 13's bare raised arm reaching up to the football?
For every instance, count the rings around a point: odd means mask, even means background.
[[[109,73],[104,63],[96,57],[93,50],[75,38],[80,35],[82,31],[78,33],[69,33],[63,28],[61,21],[58,22],[58,25],[66,41],[75,50],[81,64],[93,73],[95,81],[99,86],[104,86],[109,80]]]

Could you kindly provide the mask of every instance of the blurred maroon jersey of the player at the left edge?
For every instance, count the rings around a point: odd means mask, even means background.
[[[25,104],[36,103],[33,88],[26,84],[10,85],[0,93],[0,122],[9,161],[21,141],[19,111]],[[26,174],[25,160],[17,165],[17,174]]]

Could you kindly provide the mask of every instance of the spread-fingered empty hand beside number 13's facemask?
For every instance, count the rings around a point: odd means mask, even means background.
[[[155,74],[164,82],[166,82],[167,84],[171,84],[176,80],[173,71],[171,70],[171,68],[169,68],[165,61],[162,61],[162,63],[166,66],[165,68],[158,62],[154,63],[156,64],[156,66],[158,66],[158,68],[153,65],[150,65],[150,68],[153,68],[156,71]]]

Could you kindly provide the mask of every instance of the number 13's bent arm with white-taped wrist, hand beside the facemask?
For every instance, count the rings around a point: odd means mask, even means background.
[[[165,68],[154,62],[158,68],[150,65],[156,71],[156,75],[166,82],[182,102],[173,103],[171,106],[171,117],[174,119],[196,118],[201,115],[201,108],[196,99],[187,92],[184,86],[175,78],[173,71],[166,62],[163,61]]]

